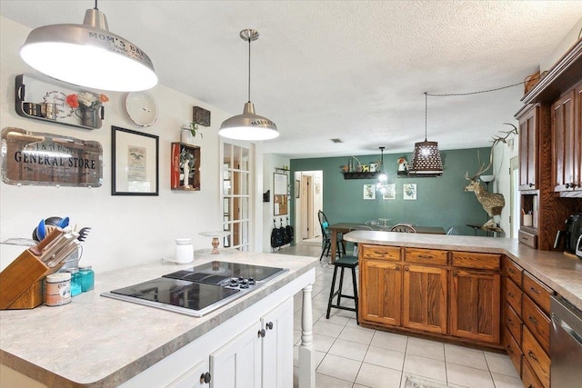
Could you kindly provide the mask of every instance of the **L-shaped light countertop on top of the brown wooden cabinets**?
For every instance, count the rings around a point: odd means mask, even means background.
[[[344,239],[362,244],[507,254],[528,273],[582,310],[582,260],[561,252],[532,249],[519,244],[517,239],[464,235],[354,231],[344,234]]]

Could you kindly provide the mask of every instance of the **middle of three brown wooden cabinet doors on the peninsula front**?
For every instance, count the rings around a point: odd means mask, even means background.
[[[404,266],[403,325],[447,333],[447,269]]]

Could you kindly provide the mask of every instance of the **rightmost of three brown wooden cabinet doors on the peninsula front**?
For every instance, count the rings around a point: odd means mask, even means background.
[[[480,342],[499,343],[501,274],[453,269],[451,272],[451,334]]]

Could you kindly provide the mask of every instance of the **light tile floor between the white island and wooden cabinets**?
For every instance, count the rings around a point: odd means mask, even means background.
[[[298,244],[278,253],[319,257],[321,248],[315,244]],[[326,264],[329,258],[324,257],[323,262],[316,268],[312,294],[317,387],[402,388],[407,375],[457,388],[522,387],[506,354],[366,329],[356,324],[356,313],[344,310],[332,309],[330,318],[326,319],[333,267]],[[351,294],[351,276],[347,274],[344,290]],[[301,336],[301,298],[302,294],[297,293],[295,363]]]

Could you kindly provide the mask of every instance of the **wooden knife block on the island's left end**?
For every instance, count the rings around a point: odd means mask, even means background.
[[[25,250],[0,273],[0,310],[32,309],[43,301],[43,280],[63,264],[47,267]]]

